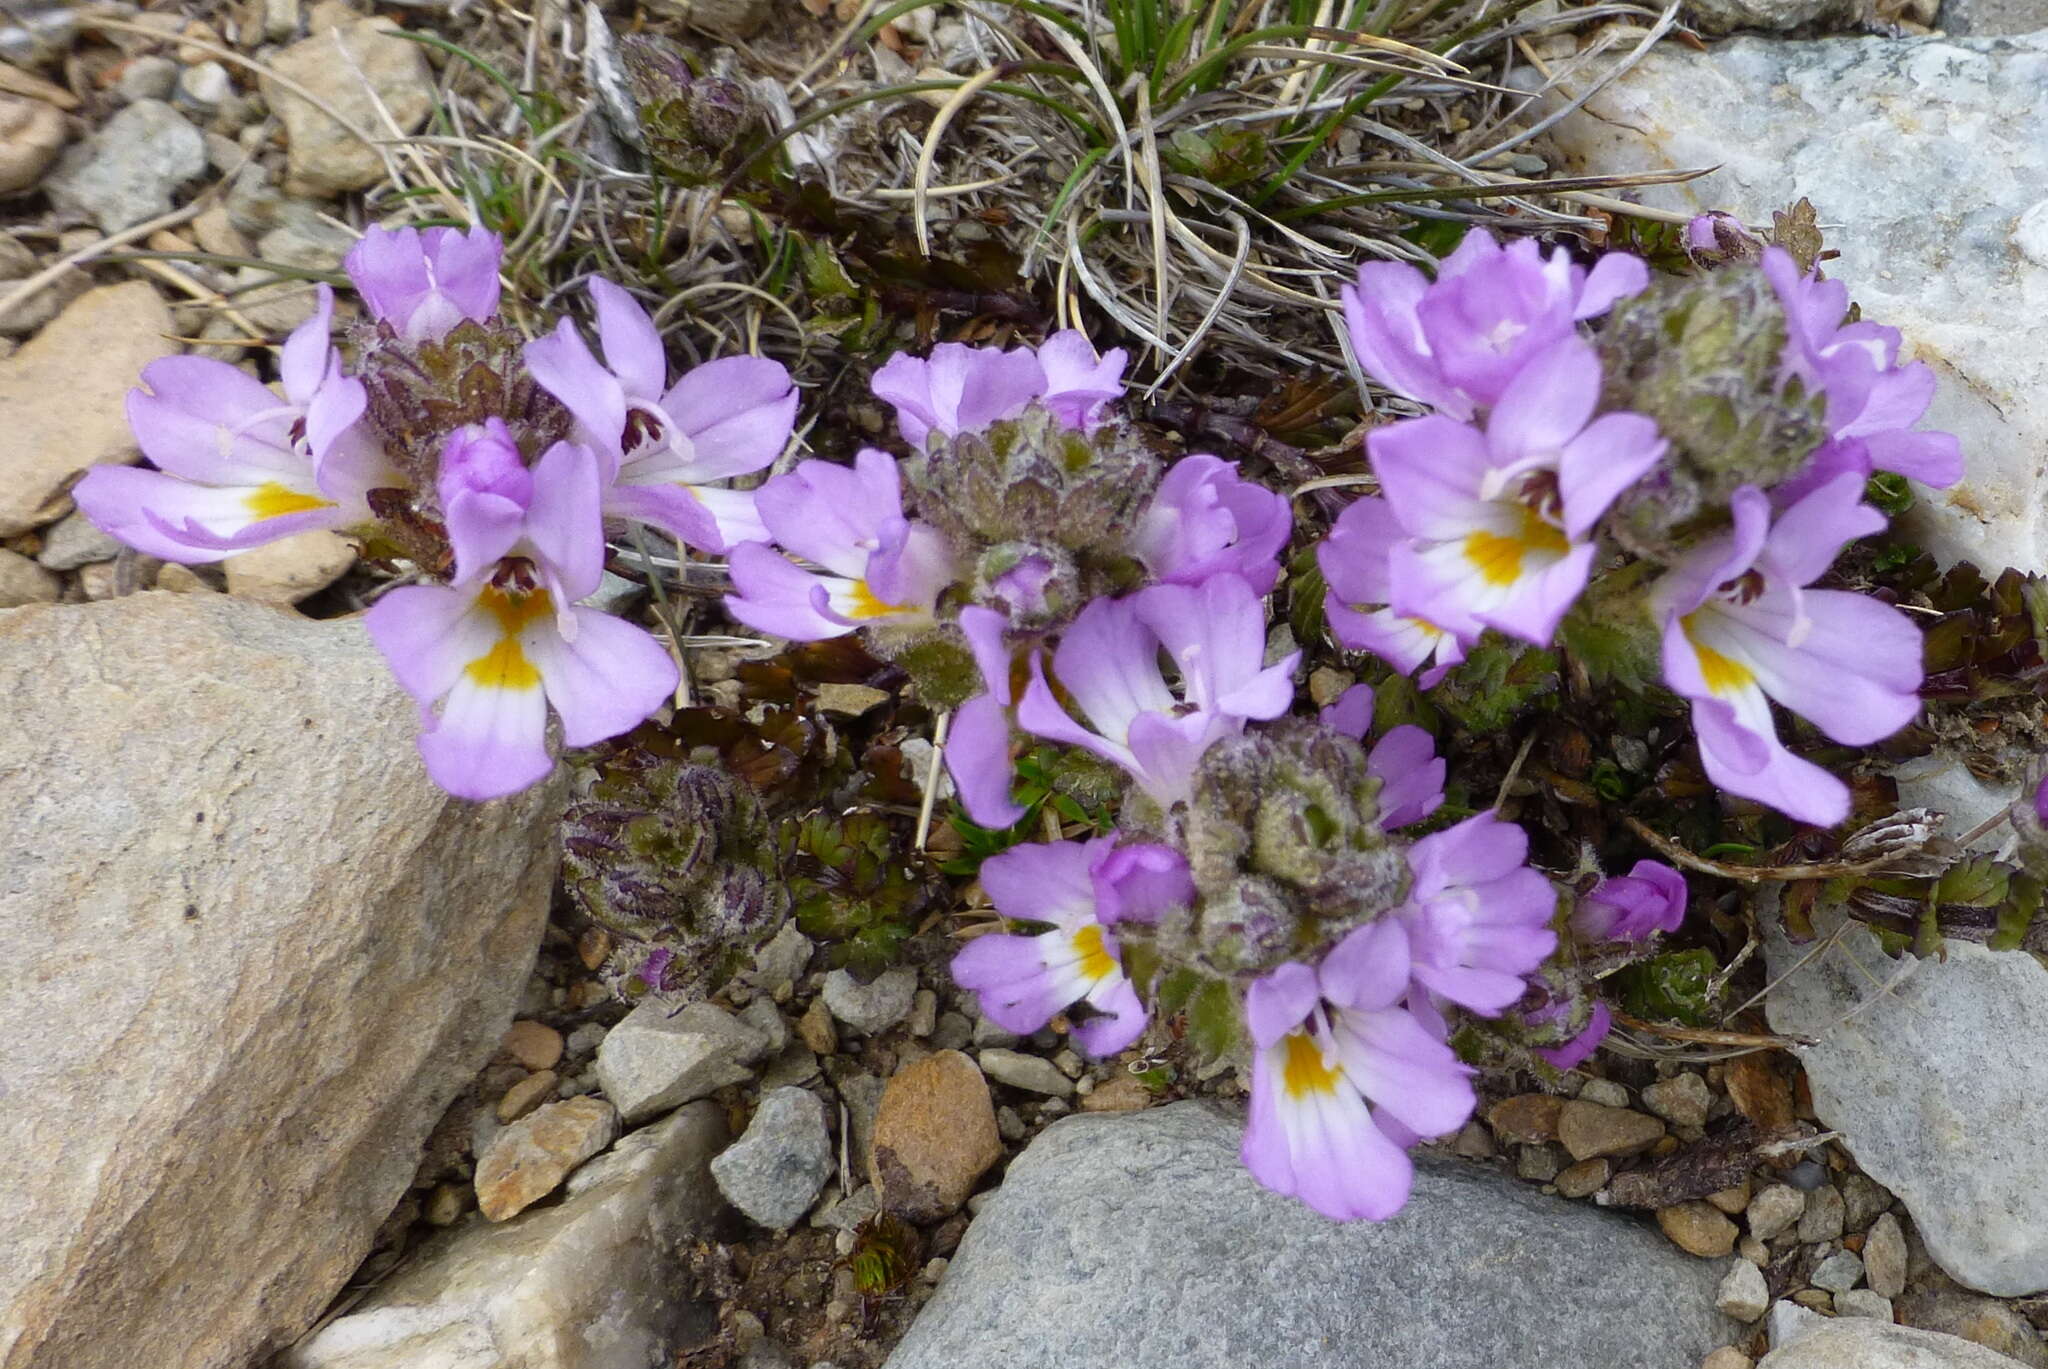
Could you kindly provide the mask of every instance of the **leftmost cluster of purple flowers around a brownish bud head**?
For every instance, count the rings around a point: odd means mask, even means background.
[[[154,361],[127,408],[156,469],[96,467],[76,490],[100,529],[168,562],[346,529],[436,580],[387,592],[367,625],[420,701],[428,773],[467,799],[553,769],[549,705],[588,746],[672,695],[659,641],[578,603],[606,525],[702,551],[762,537],[752,498],[711,482],[772,463],[797,414],[788,371],[758,357],[670,385],[653,322],[608,281],[590,283],[602,365],[569,320],[522,344],[496,318],[500,254],[481,230],[371,230],[346,260],[369,309],[356,373],[324,285],[285,342],[283,398],[223,361]]]

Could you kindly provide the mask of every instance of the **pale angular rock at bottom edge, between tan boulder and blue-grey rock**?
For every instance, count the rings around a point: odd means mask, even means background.
[[[276,1369],[608,1369],[672,1357],[709,1316],[676,1269],[723,1203],[725,1113],[692,1103],[569,1176],[561,1203],[434,1236]]]

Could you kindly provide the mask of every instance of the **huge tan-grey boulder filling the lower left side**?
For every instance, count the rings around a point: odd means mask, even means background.
[[[532,967],[559,789],[473,805],[356,623],[0,613],[0,1365],[244,1369],[369,1252]]]

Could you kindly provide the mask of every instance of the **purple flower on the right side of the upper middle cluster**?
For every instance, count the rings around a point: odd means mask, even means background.
[[[1200,584],[1219,572],[1243,576],[1260,594],[1280,580],[1280,547],[1294,531],[1284,496],[1241,480],[1223,457],[1182,457],[1139,518],[1130,553],[1169,584]]]

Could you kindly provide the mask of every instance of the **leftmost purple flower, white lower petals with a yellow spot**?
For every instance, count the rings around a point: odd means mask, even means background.
[[[72,496],[92,523],[166,562],[219,557],[371,516],[365,496],[399,484],[356,422],[362,383],[328,340],[334,291],[285,340],[285,398],[225,361],[162,357],[127,396],[129,426],[160,469],[96,465]]]

